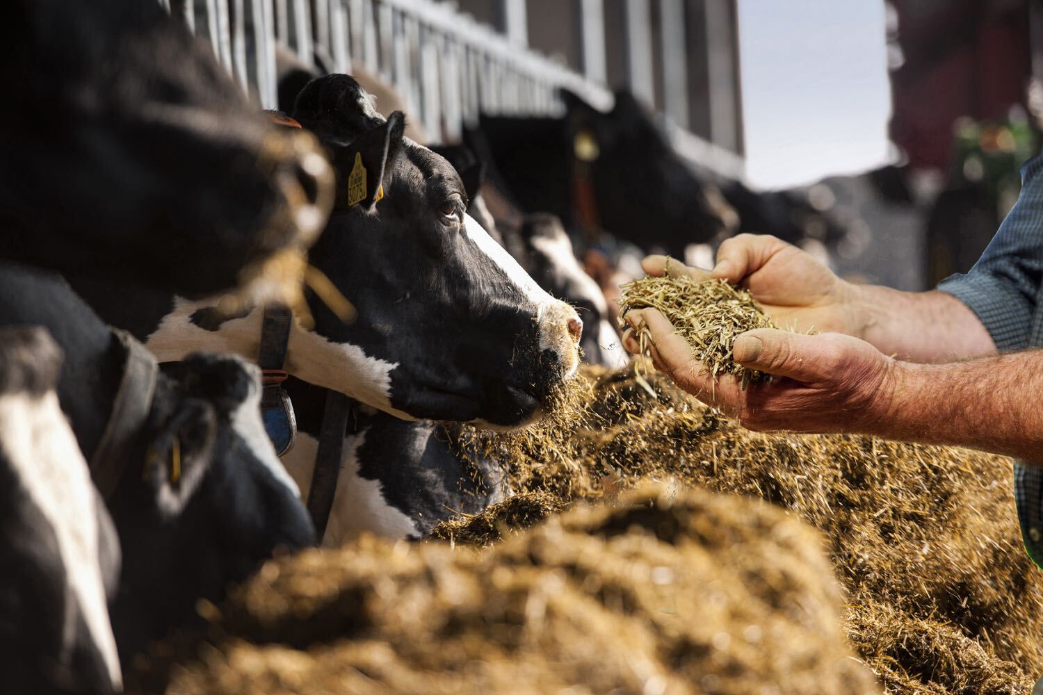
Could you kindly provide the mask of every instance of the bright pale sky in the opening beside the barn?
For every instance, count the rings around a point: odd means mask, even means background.
[[[882,0],[738,0],[747,175],[796,185],[884,164]]]

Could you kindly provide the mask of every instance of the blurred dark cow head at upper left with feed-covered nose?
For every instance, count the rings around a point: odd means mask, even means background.
[[[15,0],[4,27],[0,258],[200,296],[322,227],[314,139],[272,127],[160,2]]]

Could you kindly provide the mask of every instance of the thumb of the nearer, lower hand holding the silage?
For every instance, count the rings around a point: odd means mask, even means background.
[[[828,336],[804,336],[757,328],[738,336],[732,346],[736,363],[747,369],[817,381],[835,371],[840,346]]]

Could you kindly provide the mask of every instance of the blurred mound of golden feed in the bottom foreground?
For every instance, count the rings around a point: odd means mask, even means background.
[[[266,565],[168,692],[878,692],[822,539],[645,488],[482,552],[365,538]]]

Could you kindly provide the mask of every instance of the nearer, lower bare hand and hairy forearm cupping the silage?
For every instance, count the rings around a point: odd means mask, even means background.
[[[1043,462],[1043,350],[926,365],[890,357],[843,333],[758,328],[735,339],[735,361],[774,375],[742,389],[714,379],[656,309],[627,314],[637,351],[649,332],[656,367],[749,429],[856,432],[951,444]]]

